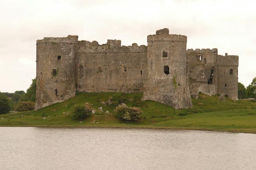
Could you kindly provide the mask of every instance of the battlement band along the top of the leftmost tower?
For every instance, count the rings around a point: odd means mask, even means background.
[[[78,35],[68,35],[67,37],[44,37],[42,40],[37,40],[36,44],[39,43],[77,43]]]

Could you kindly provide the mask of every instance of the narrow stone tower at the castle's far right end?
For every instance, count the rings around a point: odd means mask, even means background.
[[[233,100],[238,100],[238,65],[239,56],[218,55],[218,94]]]

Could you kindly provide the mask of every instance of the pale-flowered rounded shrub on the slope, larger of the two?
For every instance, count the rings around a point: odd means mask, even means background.
[[[120,104],[116,107],[116,117],[122,121],[137,121],[143,111],[138,107],[128,107]]]

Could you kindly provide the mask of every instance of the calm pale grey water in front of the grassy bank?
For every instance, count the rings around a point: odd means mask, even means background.
[[[0,127],[0,170],[256,170],[256,135]]]

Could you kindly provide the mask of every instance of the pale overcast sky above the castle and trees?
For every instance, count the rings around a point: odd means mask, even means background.
[[[0,0],[0,92],[24,90],[36,74],[36,40],[79,35],[147,45],[169,28],[187,48],[239,55],[239,82],[256,77],[255,0]]]

